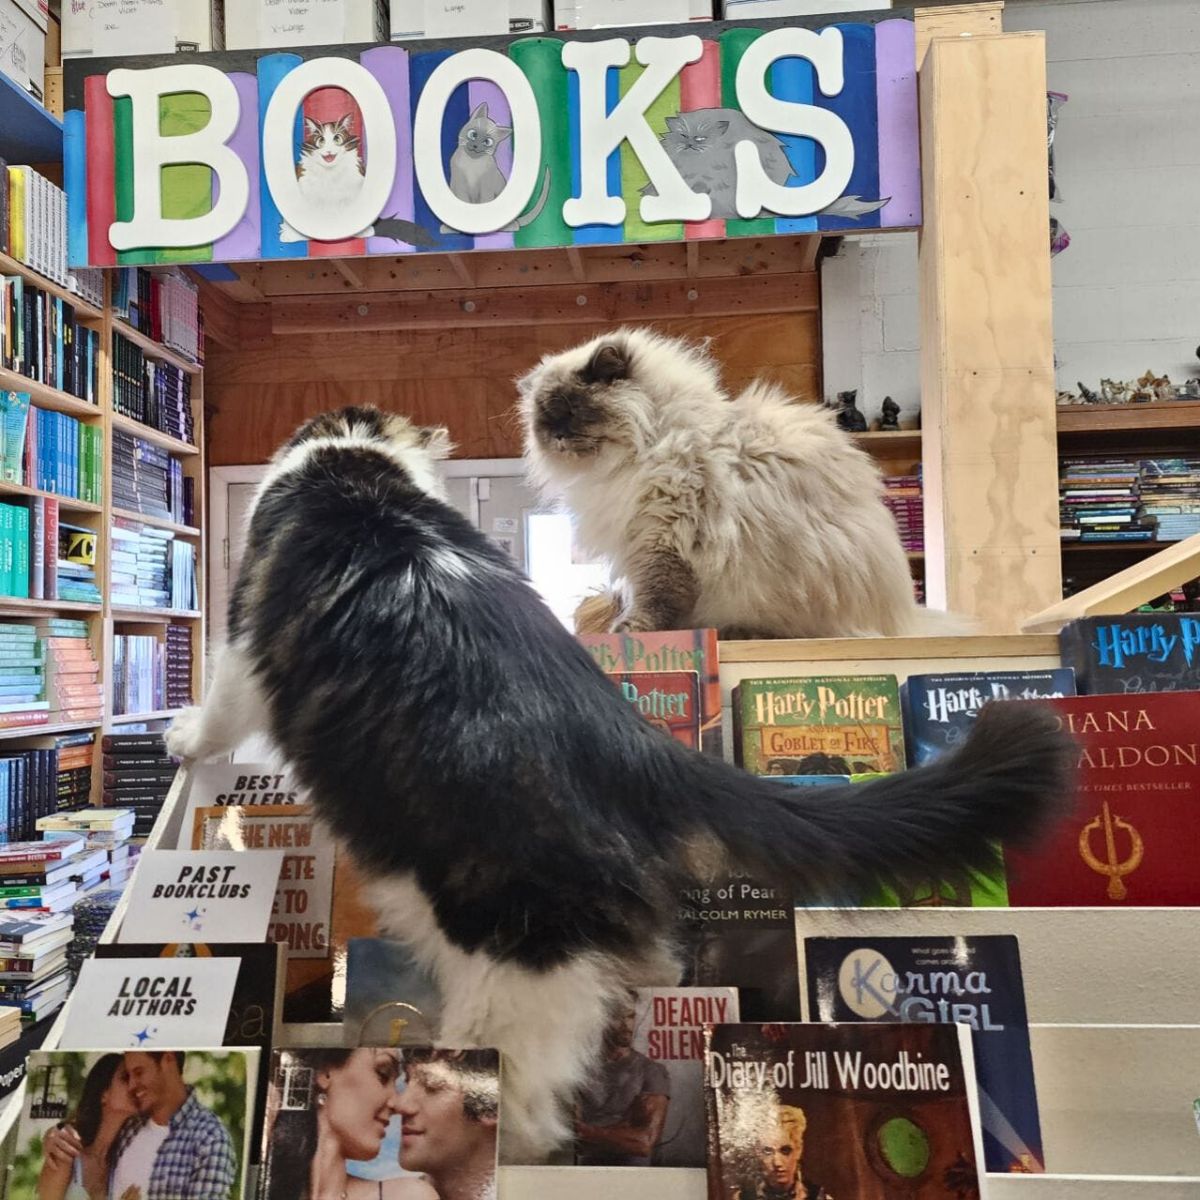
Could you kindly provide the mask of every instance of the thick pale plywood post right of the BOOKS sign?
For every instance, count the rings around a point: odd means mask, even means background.
[[[925,592],[989,634],[1062,599],[1045,91],[1042,34],[920,70]]]

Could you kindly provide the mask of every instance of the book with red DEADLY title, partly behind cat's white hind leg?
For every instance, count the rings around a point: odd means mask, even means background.
[[[704,1026],[738,1018],[734,988],[643,988],[605,1032],[580,1090],[575,1160],[584,1166],[703,1166]]]

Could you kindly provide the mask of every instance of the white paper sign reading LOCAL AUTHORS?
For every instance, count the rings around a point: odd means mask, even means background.
[[[62,1050],[218,1046],[239,959],[85,959],[67,1001]]]

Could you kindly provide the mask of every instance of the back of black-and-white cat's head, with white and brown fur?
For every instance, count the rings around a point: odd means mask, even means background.
[[[329,443],[353,443],[364,449],[382,450],[408,473],[422,492],[445,498],[437,463],[450,457],[454,443],[443,425],[415,425],[400,413],[384,413],[365,406],[322,413],[296,430],[276,454],[272,470],[282,473],[296,457]]]

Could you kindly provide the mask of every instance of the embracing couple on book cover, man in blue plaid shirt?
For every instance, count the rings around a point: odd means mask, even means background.
[[[166,1050],[97,1058],[78,1092],[71,1088],[78,1099],[68,1120],[43,1139],[37,1200],[232,1198],[240,1153],[226,1121],[185,1082],[187,1057]],[[240,1142],[242,1129],[235,1133]]]

